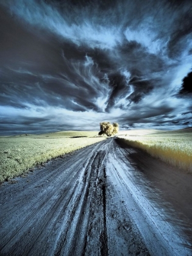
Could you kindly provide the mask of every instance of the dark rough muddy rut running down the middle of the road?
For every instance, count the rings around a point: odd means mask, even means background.
[[[106,155],[105,151],[99,151],[92,168],[95,173],[91,184],[90,226],[82,255],[108,255],[104,165]],[[96,254],[97,251],[99,254]]]

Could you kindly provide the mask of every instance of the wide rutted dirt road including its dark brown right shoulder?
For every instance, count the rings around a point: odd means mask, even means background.
[[[109,138],[5,182],[0,255],[192,255],[191,199],[173,188],[192,179],[169,168]]]

